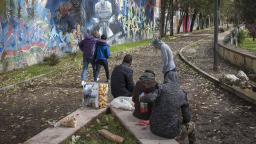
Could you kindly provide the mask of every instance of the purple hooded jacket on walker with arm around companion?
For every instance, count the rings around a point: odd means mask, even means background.
[[[92,35],[85,35],[83,41],[78,43],[85,59],[95,59],[95,49],[97,45],[108,45],[103,39],[95,38]]]

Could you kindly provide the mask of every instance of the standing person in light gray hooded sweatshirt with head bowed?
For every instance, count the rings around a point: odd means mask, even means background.
[[[176,72],[175,64],[174,64],[174,61],[173,61],[172,50],[169,47],[169,45],[165,44],[157,36],[155,36],[152,39],[151,44],[153,46],[155,46],[156,48],[161,50],[161,54],[162,54],[162,68],[161,68],[161,72],[164,73],[164,77],[170,71]]]

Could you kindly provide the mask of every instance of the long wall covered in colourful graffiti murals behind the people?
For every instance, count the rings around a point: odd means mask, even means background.
[[[2,0],[0,74],[79,50],[98,30],[110,45],[153,36],[153,0]],[[1,6],[2,6],[1,5]]]

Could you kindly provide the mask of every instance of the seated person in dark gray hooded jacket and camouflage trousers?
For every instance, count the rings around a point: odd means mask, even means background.
[[[160,137],[173,139],[179,135],[188,135],[189,144],[196,142],[195,124],[190,122],[187,93],[180,88],[177,73],[166,74],[163,84],[144,95],[141,102],[154,103],[149,119],[150,131]],[[183,122],[179,122],[179,114]]]

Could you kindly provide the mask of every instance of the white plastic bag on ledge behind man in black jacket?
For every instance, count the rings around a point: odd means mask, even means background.
[[[127,110],[134,110],[132,106],[132,97],[117,97],[110,102],[110,106]]]

